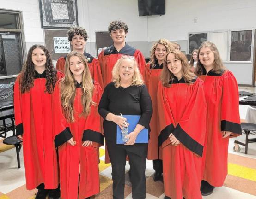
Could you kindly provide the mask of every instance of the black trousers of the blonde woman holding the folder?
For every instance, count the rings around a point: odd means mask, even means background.
[[[112,166],[113,199],[124,199],[126,155],[131,168],[133,199],[146,198],[146,157],[148,144],[117,145],[106,140]]]

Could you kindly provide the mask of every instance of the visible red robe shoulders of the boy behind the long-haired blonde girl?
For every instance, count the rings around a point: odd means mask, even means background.
[[[102,80],[102,74],[100,70],[100,65],[98,59],[91,56],[91,54],[84,52],[84,56],[87,59],[87,63],[89,66],[89,70],[91,72],[91,77],[96,82],[99,83],[101,88],[103,88],[103,80]],[[65,70],[65,62],[66,62],[67,55],[64,57],[60,57],[56,63],[56,69],[62,70],[64,73]]]

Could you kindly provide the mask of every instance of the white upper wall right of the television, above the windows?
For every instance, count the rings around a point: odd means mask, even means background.
[[[189,32],[255,28],[255,19],[256,0],[165,0],[165,15],[148,17],[148,41],[188,40]]]

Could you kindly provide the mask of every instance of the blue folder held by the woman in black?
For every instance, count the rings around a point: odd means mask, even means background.
[[[123,117],[125,117],[127,122],[130,124],[128,126],[128,133],[133,132],[140,120],[140,115],[123,115]],[[137,135],[135,143],[148,143],[147,128],[144,128],[142,131],[140,131],[140,133]],[[122,142],[121,129],[118,125],[116,125],[116,144],[125,144],[125,142]]]

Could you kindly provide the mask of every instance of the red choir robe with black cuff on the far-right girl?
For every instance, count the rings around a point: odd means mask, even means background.
[[[241,135],[238,84],[226,70],[220,74],[203,68],[205,98],[207,102],[207,133],[203,153],[202,180],[214,187],[223,185],[227,175],[229,138],[221,131],[231,131],[230,137]]]

